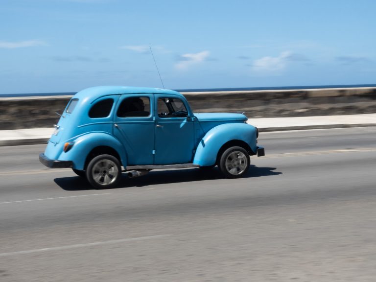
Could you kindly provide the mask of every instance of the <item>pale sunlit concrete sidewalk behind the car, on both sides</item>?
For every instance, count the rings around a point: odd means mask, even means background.
[[[319,116],[298,118],[250,118],[248,123],[259,131],[283,131],[323,128],[376,126],[376,114]],[[46,143],[53,128],[0,130],[0,146]]]

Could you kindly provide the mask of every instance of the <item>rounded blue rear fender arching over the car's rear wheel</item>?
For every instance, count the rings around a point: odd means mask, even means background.
[[[123,166],[126,166],[126,154],[123,145],[112,135],[106,132],[92,132],[81,135],[74,141],[72,148],[68,152],[61,152],[59,160],[73,161],[73,168],[85,169],[85,161],[88,154],[98,146],[108,146],[116,150],[120,156]]]

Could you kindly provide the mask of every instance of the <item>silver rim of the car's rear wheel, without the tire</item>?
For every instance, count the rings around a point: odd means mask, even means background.
[[[95,183],[107,186],[116,181],[118,172],[118,166],[113,161],[104,159],[94,164],[92,176]]]

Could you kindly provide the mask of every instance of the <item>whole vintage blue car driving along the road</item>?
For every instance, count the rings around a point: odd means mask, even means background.
[[[156,168],[213,167],[228,178],[264,156],[258,129],[242,114],[193,114],[186,98],[157,88],[100,86],[69,101],[39,160],[71,167],[95,188]]]

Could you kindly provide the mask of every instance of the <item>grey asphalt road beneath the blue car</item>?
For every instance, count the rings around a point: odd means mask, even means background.
[[[261,133],[246,177],[95,190],[0,147],[1,282],[375,281],[376,128]]]

